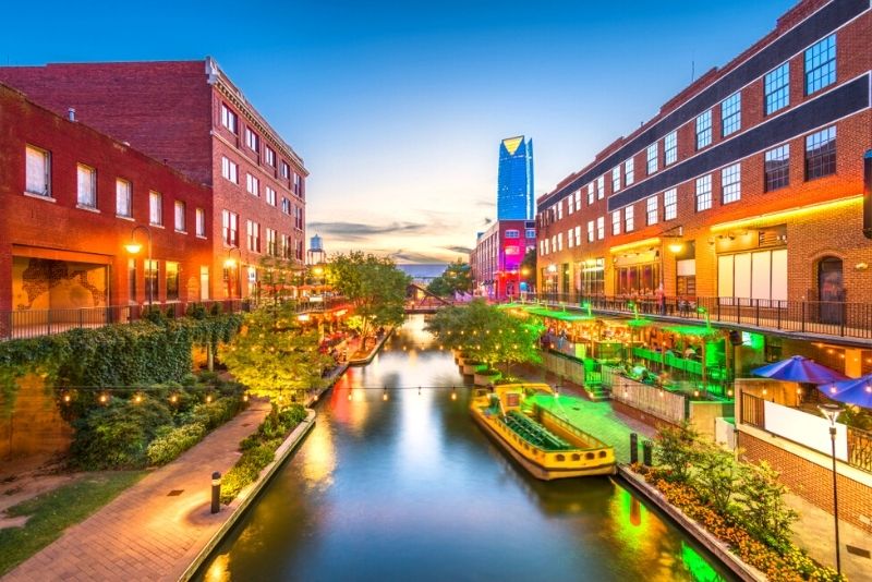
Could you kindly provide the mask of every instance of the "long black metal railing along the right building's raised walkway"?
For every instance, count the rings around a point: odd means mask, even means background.
[[[872,304],[831,301],[775,301],[742,298],[583,296],[561,293],[528,293],[523,301],[552,306],[592,310],[616,314],[653,316],[735,324],[759,328],[799,331],[821,336],[872,339]],[[634,305],[634,306],[633,306]],[[700,307],[704,307],[701,310]]]

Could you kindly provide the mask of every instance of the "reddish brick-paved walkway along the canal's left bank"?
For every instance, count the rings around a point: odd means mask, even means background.
[[[240,440],[268,412],[268,402],[252,401],[203,442],[68,529],[3,582],[178,580],[230,513],[209,513],[211,473],[233,466]]]

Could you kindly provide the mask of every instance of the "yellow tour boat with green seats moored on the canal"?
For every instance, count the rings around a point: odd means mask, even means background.
[[[536,393],[554,391],[546,384],[506,384],[493,391],[480,388],[470,412],[536,478],[615,474],[615,449],[536,404],[529,398]]]

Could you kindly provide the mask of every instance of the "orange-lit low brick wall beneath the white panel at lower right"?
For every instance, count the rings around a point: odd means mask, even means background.
[[[748,461],[766,461],[780,481],[803,499],[833,512],[833,472],[802,457],[739,432],[739,448]],[[872,533],[872,487],[839,473],[839,519]]]

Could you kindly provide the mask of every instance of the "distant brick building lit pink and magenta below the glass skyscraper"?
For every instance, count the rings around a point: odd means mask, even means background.
[[[517,296],[523,278],[521,263],[535,246],[535,220],[497,220],[480,232],[470,253],[475,294],[492,299]]]

